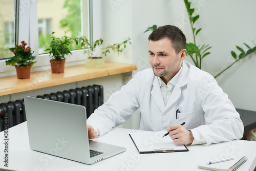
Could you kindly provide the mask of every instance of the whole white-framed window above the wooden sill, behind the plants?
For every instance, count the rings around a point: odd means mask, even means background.
[[[6,66],[3,59],[13,55],[9,48],[20,44],[20,41],[26,41],[36,55],[33,72],[50,66],[45,49],[52,32],[59,37],[66,34],[90,38],[89,8],[92,9],[92,6],[89,2],[92,3],[92,0],[0,0],[0,77],[15,74],[15,68]],[[17,27],[14,3],[19,7]],[[15,34],[18,36],[15,37]],[[81,50],[72,51],[72,57],[67,57],[65,66],[85,63],[85,58]]]

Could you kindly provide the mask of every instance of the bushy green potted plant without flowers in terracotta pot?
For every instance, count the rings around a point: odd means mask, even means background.
[[[55,37],[52,32],[50,38],[50,47],[46,49],[50,54],[50,63],[52,73],[63,73],[65,68],[65,55],[71,54],[70,45],[72,39],[68,36],[62,36],[61,38]]]

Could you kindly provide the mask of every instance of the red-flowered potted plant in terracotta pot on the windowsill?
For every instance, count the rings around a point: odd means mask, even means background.
[[[32,52],[29,46],[26,48],[25,41],[21,41],[21,43],[21,45],[9,49],[14,56],[5,62],[6,65],[15,66],[18,79],[28,79],[30,78],[30,69],[36,61],[32,61],[35,59],[35,56],[32,55],[34,51]]]

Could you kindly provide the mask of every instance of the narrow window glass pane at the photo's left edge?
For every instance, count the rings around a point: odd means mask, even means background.
[[[11,0],[0,0],[0,59],[9,58],[14,46],[14,4]]]

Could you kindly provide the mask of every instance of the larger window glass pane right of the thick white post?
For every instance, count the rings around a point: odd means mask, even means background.
[[[49,35],[52,32],[54,36],[76,37],[82,35],[81,11],[83,17],[88,20],[88,9],[81,10],[81,3],[87,4],[84,0],[39,0],[38,10],[38,44],[39,54],[47,53],[45,49],[49,47]],[[87,7],[87,5],[86,5]],[[84,15],[86,14],[86,15]],[[86,25],[87,27],[88,25]],[[84,27],[84,24],[83,24]],[[84,34],[84,36],[87,36]],[[76,49],[76,47],[73,47]]]

